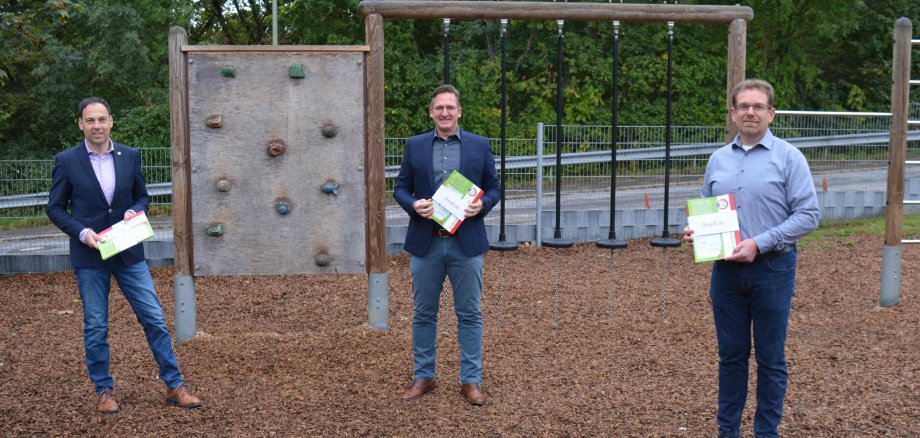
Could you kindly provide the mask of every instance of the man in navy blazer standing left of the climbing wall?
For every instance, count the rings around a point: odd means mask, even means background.
[[[70,236],[70,262],[83,301],[83,344],[86,367],[98,395],[96,410],[118,412],[112,395],[115,381],[109,373],[109,290],[115,276],[138,322],[166,383],[166,401],[183,408],[201,406],[182,381],[163,310],[144,258],[135,245],[102,260],[97,233],[147,211],[150,196],[141,173],[137,149],[109,138],[113,118],[109,104],[98,97],[80,102],[77,124],[85,140],[57,154],[48,197],[48,217]],[[69,209],[69,211],[68,211]]]

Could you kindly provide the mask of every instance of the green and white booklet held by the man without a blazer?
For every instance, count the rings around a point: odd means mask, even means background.
[[[722,260],[741,243],[735,195],[687,200],[687,226],[693,230],[696,262]]]

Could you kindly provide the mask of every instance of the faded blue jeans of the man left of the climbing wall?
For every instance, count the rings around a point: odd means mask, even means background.
[[[86,350],[86,368],[89,378],[102,392],[115,387],[115,380],[109,373],[109,291],[112,275],[118,281],[122,294],[137,321],[144,327],[147,345],[160,367],[160,379],[167,388],[182,384],[172,339],[163,320],[160,300],[153,289],[153,279],[147,262],[125,266],[115,261],[105,269],[77,268],[77,286],[83,300],[83,348]]]

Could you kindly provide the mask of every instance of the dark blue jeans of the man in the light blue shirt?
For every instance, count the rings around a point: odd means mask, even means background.
[[[778,436],[786,397],[786,329],[795,293],[796,251],[758,255],[752,263],[717,261],[709,296],[719,344],[719,429],[740,436],[747,398],[751,332],[757,360],[754,433]]]

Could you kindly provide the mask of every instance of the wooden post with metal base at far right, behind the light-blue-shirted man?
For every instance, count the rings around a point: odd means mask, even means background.
[[[901,17],[894,25],[891,67],[891,130],[888,140],[888,201],[885,209],[885,247],[879,305],[901,300],[901,219],[904,207],[904,158],[907,155],[907,116],[910,103],[910,49],[913,26]]]

